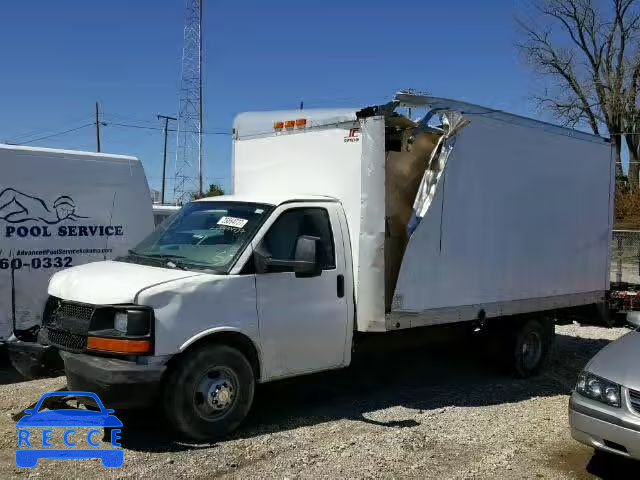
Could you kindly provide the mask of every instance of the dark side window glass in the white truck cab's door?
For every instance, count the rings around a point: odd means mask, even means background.
[[[271,225],[263,242],[272,258],[295,260],[296,241],[301,235],[320,238],[317,256],[323,270],[336,267],[333,233],[329,214],[324,208],[292,208],[283,212]],[[292,272],[293,268],[281,267],[278,272]]]

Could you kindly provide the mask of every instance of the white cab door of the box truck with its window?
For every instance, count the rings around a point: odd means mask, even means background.
[[[265,379],[340,367],[351,338],[351,302],[345,295],[346,259],[335,204],[281,206],[273,217],[256,247],[274,260],[294,260],[298,237],[317,237],[321,269],[311,277],[282,266],[256,274]]]

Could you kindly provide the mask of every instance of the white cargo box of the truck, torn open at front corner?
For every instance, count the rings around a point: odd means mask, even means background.
[[[403,107],[428,111],[414,121]],[[236,194],[342,203],[359,331],[604,301],[614,183],[603,138],[412,94],[241,114],[234,134]]]

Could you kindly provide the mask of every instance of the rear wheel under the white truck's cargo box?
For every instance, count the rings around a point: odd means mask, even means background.
[[[536,375],[546,365],[555,339],[551,319],[521,322],[507,337],[513,372],[520,378]]]

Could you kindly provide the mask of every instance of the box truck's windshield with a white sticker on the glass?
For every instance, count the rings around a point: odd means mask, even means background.
[[[226,273],[271,209],[258,203],[192,202],[118,260]]]

